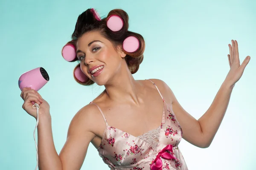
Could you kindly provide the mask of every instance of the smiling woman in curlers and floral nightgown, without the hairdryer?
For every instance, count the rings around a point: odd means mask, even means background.
[[[41,170],[79,170],[90,142],[113,170],[187,170],[178,147],[181,138],[197,147],[209,147],[232,89],[250,60],[248,56],[240,65],[238,45],[232,40],[230,71],[212,105],[196,120],[162,80],[134,80],[132,74],[143,61],[145,45],[140,34],[128,31],[125,11],[112,10],[101,19],[94,9],[88,9],[79,15],[72,39],[64,46],[63,57],[69,62],[79,61],[74,78],[82,85],[104,85],[105,91],[73,117],[58,155],[49,104],[37,91],[23,89],[21,97],[27,113],[37,118],[31,102],[40,104]]]

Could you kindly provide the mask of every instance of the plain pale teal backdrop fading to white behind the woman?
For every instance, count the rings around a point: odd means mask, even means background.
[[[189,170],[255,169],[256,1],[1,0],[1,170],[33,170],[36,165],[36,121],[21,108],[21,74],[37,67],[49,74],[50,81],[39,93],[50,105],[58,153],[75,113],[104,89],[77,84],[76,63],[61,57],[78,15],[87,8],[96,8],[102,17],[114,8],[129,14],[129,30],[142,34],[146,42],[135,79],[164,80],[196,119],[207,111],[224,81],[228,44],[237,40],[241,62],[247,55],[251,60],[236,83],[215,139],[206,149],[182,140],[180,150]],[[108,170],[92,144],[81,169]]]

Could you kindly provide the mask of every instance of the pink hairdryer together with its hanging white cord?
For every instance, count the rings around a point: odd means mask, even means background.
[[[32,88],[35,91],[39,91],[47,82],[49,81],[49,75],[47,74],[47,72],[45,71],[44,68],[42,67],[38,67],[35,68],[33,70],[27,71],[25,73],[23,73],[20,78],[19,78],[19,88],[22,91],[23,88]],[[38,109],[40,108],[39,105],[35,102],[31,102],[33,104],[33,108],[36,108],[37,110],[37,123],[35,126],[35,130],[38,126],[38,122],[39,122],[39,116],[38,116]],[[34,130],[34,140],[35,140],[35,130]],[[35,167],[35,170],[37,170],[38,168],[38,147],[36,144],[36,140],[35,140],[35,148],[36,148],[36,159],[37,159],[37,164]]]

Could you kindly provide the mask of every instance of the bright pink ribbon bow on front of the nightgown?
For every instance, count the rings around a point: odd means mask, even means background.
[[[162,170],[162,166],[163,166],[163,162],[162,159],[160,157],[162,157],[163,159],[177,159],[175,158],[175,156],[173,156],[171,153],[169,152],[173,152],[172,150],[172,145],[168,144],[166,147],[164,147],[157,155],[156,159],[153,161],[153,163],[150,165],[150,169],[151,170]]]

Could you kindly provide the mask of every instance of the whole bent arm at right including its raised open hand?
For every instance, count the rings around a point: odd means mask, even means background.
[[[232,45],[229,44],[228,46],[230,49],[230,54],[228,54],[230,71],[209,109],[203,116],[201,116],[200,119],[196,120],[187,113],[179,104],[168,85],[164,82],[160,82],[160,84],[162,84],[163,91],[167,94],[167,98],[169,101],[172,101],[173,111],[183,129],[183,138],[198,147],[209,147],[212,143],[212,140],[227,111],[233,87],[241,78],[245,67],[250,61],[250,56],[247,56],[240,65],[238,43],[236,40],[232,40]]]

